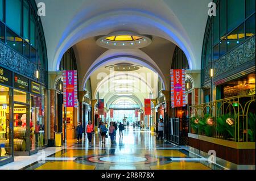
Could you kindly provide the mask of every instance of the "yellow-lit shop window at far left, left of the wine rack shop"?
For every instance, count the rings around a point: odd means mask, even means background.
[[[0,86],[0,161],[12,155],[9,94],[8,87]]]

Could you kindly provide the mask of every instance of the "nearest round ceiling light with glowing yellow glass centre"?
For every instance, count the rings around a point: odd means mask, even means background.
[[[152,43],[151,37],[134,32],[114,32],[96,40],[97,45],[108,49],[138,49]]]

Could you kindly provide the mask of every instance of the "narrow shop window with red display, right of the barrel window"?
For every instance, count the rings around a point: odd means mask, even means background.
[[[32,121],[32,136],[31,150],[44,145],[44,114],[43,114],[43,99],[42,96],[31,95],[31,121]]]

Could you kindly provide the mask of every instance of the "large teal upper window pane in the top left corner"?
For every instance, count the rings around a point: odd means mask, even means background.
[[[22,30],[22,1],[8,0],[6,1],[6,24],[15,33],[21,35]]]

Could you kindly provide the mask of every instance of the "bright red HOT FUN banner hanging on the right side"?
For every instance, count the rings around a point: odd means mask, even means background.
[[[171,70],[171,103],[172,108],[185,107],[185,70]]]

